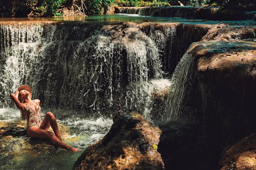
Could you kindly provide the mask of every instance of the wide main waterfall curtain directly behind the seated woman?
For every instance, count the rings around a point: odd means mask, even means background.
[[[108,29],[2,25],[1,105],[11,106],[9,94],[28,84],[48,107],[144,112],[148,81],[162,77],[158,47],[138,28],[118,37]]]

